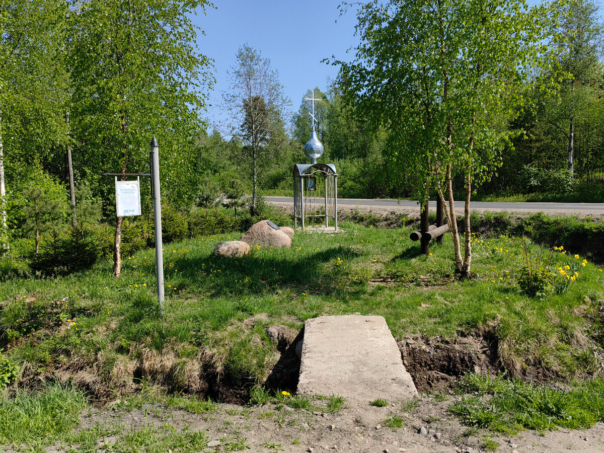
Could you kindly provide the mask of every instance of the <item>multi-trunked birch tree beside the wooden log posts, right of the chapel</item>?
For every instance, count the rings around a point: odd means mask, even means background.
[[[371,0],[357,8],[361,43],[341,79],[359,109],[390,131],[394,172],[418,175],[417,198],[435,188],[454,244],[455,272],[471,275],[472,190],[501,165],[527,108],[525,89],[553,33],[550,7],[523,0]],[[554,21],[555,24],[555,21]],[[464,236],[452,178],[464,181]]]

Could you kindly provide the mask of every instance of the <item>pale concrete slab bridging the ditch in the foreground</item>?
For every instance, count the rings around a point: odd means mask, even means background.
[[[340,394],[367,404],[417,389],[383,316],[320,316],[304,324],[298,394]]]

